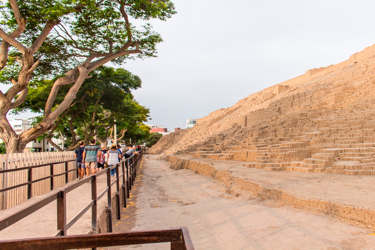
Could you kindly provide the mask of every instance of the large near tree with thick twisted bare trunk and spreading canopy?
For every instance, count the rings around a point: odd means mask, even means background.
[[[130,19],[167,20],[175,14],[170,0],[9,0],[0,2],[0,138],[7,152],[50,130],[76,99],[89,73],[106,62],[156,56],[160,35]],[[40,123],[17,135],[6,115],[27,97],[31,80],[51,81]],[[62,87],[69,90],[61,101]]]

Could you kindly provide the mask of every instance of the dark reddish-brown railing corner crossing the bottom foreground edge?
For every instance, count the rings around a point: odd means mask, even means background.
[[[186,227],[122,233],[0,241],[6,250],[66,250],[170,242],[171,250],[194,250]]]

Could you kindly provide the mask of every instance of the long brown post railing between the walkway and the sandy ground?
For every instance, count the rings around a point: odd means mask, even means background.
[[[87,178],[84,178],[77,183],[71,184],[67,187],[64,187],[62,190],[52,190],[50,194],[44,196],[44,198],[40,201],[37,201],[33,204],[26,206],[25,208],[16,211],[4,218],[0,219],[0,230],[5,229],[14,223],[20,221],[21,219],[25,218],[26,216],[30,215],[31,213],[37,211],[38,209],[48,205],[49,203],[57,200],[57,229],[58,233],[56,236],[63,236],[66,235],[66,231],[79,219],[83,216],[83,214],[91,208],[91,227],[93,230],[97,230],[97,201],[100,200],[105,194],[107,194],[107,208],[106,212],[108,214],[108,231],[112,232],[112,201],[111,201],[111,187],[116,184],[116,205],[117,205],[117,219],[120,218],[120,178],[122,179],[122,188],[123,188],[123,207],[126,208],[126,196],[129,198],[129,190],[131,186],[134,185],[134,179],[136,178],[137,174],[137,166],[139,165],[142,159],[143,151],[139,151],[139,155],[133,155],[130,158],[127,158],[118,164],[104,168],[104,170],[91,175]],[[68,162],[68,161],[67,161]],[[48,165],[48,164],[47,164]],[[33,166],[33,167],[40,167],[40,166]],[[25,169],[32,169],[33,167],[24,167]],[[119,168],[122,168],[122,173],[120,174]],[[21,169],[21,168],[18,168]],[[22,168],[23,169],[23,168]],[[116,169],[116,179],[111,181],[110,170]],[[13,170],[13,169],[10,169]],[[72,169],[72,170],[76,170]],[[62,174],[67,174],[67,172],[72,171],[68,170]],[[3,170],[7,171],[7,170]],[[59,175],[62,175],[59,174]],[[104,191],[97,195],[97,177],[100,175],[106,174],[106,183],[107,187]],[[126,175],[126,177],[125,177]],[[53,179],[56,175],[52,175],[49,178]],[[45,177],[39,179],[39,181],[46,179]],[[31,185],[33,182],[38,180],[27,182],[22,185]],[[79,212],[71,221],[67,222],[66,217],[66,194],[77,187],[82,186],[83,184],[91,181],[91,202],[87,204],[85,208],[81,212]],[[53,183],[53,181],[52,181]],[[19,185],[18,185],[19,186]],[[17,188],[15,186],[13,188]],[[53,184],[51,185],[53,187]],[[1,248],[0,248],[1,249]]]

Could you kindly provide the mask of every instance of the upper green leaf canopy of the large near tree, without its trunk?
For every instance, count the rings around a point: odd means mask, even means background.
[[[32,45],[48,22],[58,23],[34,55],[35,60],[41,61],[34,70],[34,78],[43,80],[56,79],[57,75],[76,67],[89,55],[97,53],[100,60],[130,41],[138,42],[142,53],[114,57],[113,63],[155,57],[156,44],[163,41],[161,36],[149,23],[137,27],[131,21],[166,21],[176,13],[170,0],[18,0],[18,5],[27,21],[25,31],[17,40],[26,47]],[[0,2],[0,24],[8,33],[18,26],[8,1]],[[135,44],[129,49],[135,49]],[[21,53],[11,47],[9,56],[10,59],[20,57]],[[0,82],[10,83],[12,78],[17,80],[20,69],[19,62],[9,62],[3,69],[5,72],[0,73]]]

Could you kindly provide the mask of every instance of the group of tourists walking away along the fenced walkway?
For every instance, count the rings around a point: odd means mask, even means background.
[[[90,144],[84,146],[83,142],[79,143],[79,147],[76,148],[74,156],[77,158],[78,177],[83,179],[84,173],[86,172],[87,177],[90,174],[95,174],[105,167],[112,167],[119,163],[124,157],[129,158],[133,154],[138,154],[136,151],[140,150],[140,146],[130,146],[128,150],[123,154],[123,148],[118,144],[112,144],[108,149],[105,146],[96,145],[96,140],[91,139]],[[115,179],[116,169],[110,170],[112,181]]]

